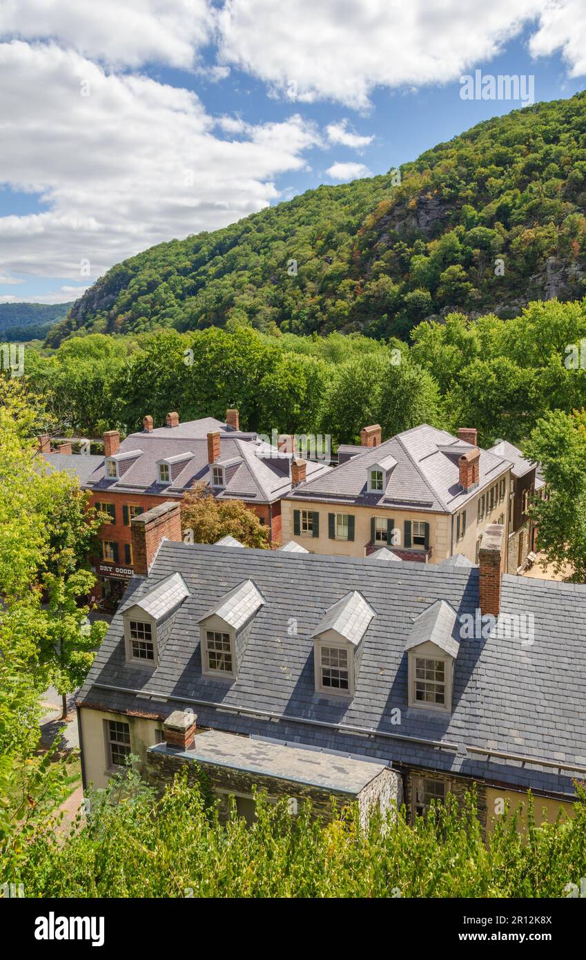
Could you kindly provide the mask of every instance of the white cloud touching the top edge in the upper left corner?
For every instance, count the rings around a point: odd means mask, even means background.
[[[207,0],[2,0],[0,36],[56,39],[92,60],[189,69],[209,40]]]

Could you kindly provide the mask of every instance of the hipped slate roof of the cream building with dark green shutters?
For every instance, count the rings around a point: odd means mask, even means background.
[[[449,447],[454,449],[454,454],[446,452]],[[465,444],[445,430],[422,423],[379,446],[363,447],[362,453],[339,467],[315,479],[308,478],[289,493],[288,498],[454,514],[478,493],[476,489],[463,492],[459,485],[457,457],[473,448],[473,444]],[[387,472],[387,490],[368,492],[368,468],[387,457],[397,461],[397,466]],[[509,461],[489,450],[481,450],[479,467],[482,488],[496,481],[509,467]]]

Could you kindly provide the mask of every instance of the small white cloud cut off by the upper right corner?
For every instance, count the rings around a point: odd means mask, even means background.
[[[572,77],[586,74],[586,8],[583,0],[548,3],[541,14],[539,30],[529,41],[533,57],[548,57],[562,51]]]

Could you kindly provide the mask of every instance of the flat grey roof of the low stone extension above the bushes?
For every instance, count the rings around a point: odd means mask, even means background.
[[[160,743],[152,751],[164,754],[167,746]],[[173,756],[188,756],[199,763],[245,770],[279,780],[293,780],[324,790],[347,793],[352,797],[387,768],[387,764],[353,756],[338,756],[309,750],[297,744],[275,743],[217,730],[197,733],[193,747],[178,754],[174,750]]]

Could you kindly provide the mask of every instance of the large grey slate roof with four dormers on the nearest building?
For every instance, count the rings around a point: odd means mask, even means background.
[[[539,761],[586,767],[585,586],[505,575],[502,612],[531,614],[532,640],[496,631],[479,639],[462,636],[447,714],[408,706],[405,643],[415,618],[437,600],[449,603],[458,617],[475,616],[478,567],[376,564],[167,540],[150,577],[132,578],[125,603],[176,572],[190,595],[176,613],[156,669],[125,663],[117,612],[82,688],[82,706],[161,717],[191,707],[201,727],[573,793],[579,774]],[[205,677],[198,622],[247,579],[265,604],[252,621],[239,676],[229,683]],[[356,694],[347,700],[316,693],[312,637],[325,611],[353,590],[360,590],[376,616],[363,637]],[[473,749],[536,762],[486,758]]]

